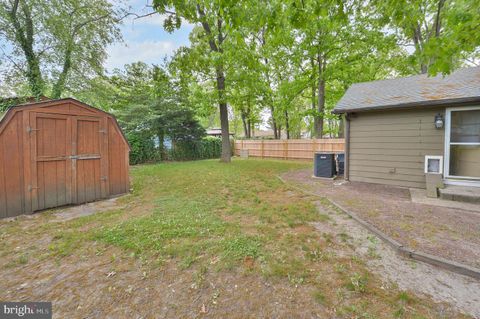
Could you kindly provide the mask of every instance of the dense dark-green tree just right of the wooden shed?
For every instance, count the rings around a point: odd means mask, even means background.
[[[176,80],[167,65],[135,62],[96,79],[96,90],[82,92],[82,97],[86,101],[102,94],[109,97],[103,108],[117,116],[127,138],[135,143],[133,162],[164,159],[167,140],[193,142],[205,136],[181,81]]]

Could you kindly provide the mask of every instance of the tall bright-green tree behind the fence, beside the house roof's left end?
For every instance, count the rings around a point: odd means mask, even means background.
[[[339,130],[339,119],[330,111],[348,85],[388,75],[395,57],[401,56],[394,37],[382,32],[367,8],[357,1],[314,0],[291,0],[281,7],[290,28],[280,31],[284,40],[275,49],[276,56],[286,57],[280,64],[292,78],[288,94],[296,94],[297,104],[310,104],[309,110],[296,109],[313,119],[312,135],[317,138]],[[374,65],[384,72],[377,72]]]

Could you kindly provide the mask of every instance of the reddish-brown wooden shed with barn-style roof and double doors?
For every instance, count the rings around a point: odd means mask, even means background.
[[[115,117],[75,99],[11,107],[0,120],[0,218],[129,191]]]

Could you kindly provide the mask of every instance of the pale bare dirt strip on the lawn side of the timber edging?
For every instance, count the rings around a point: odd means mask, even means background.
[[[330,220],[328,223],[314,223],[315,228],[349,243],[353,250],[342,252],[367,260],[370,270],[384,278],[385,289],[393,282],[402,290],[447,302],[464,313],[480,317],[479,281],[402,258],[348,215],[318,205],[319,211],[328,214]]]

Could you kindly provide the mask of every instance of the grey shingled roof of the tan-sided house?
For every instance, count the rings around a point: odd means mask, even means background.
[[[445,77],[421,74],[356,83],[337,103],[334,113],[469,101],[480,102],[480,67],[459,69]]]

